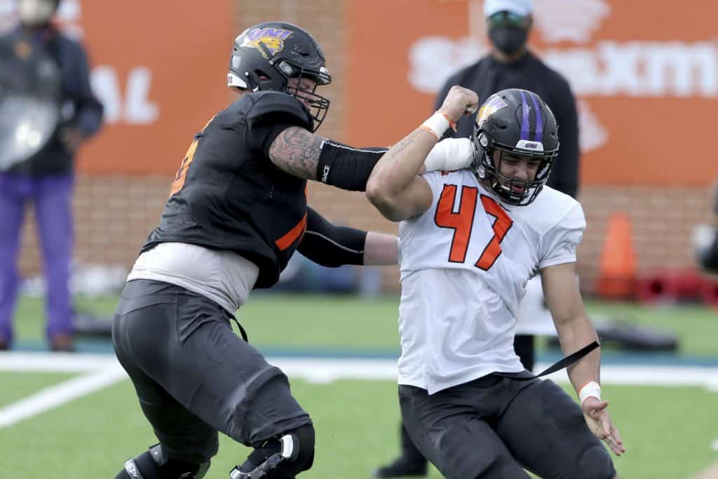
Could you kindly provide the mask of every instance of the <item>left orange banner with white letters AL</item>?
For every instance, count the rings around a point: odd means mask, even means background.
[[[0,0],[5,28],[12,4]],[[62,0],[57,20],[88,50],[105,107],[103,130],[81,149],[79,171],[176,171],[192,136],[229,101],[231,3]]]

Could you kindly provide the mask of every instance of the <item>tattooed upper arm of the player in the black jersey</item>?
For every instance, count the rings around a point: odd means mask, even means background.
[[[317,179],[317,164],[324,139],[297,126],[290,126],[274,139],[269,159],[276,167],[305,180]]]

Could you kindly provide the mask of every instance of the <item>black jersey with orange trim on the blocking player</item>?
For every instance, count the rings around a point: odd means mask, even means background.
[[[234,251],[270,287],[307,225],[307,180],[274,166],[269,147],[289,126],[312,131],[312,117],[286,93],[248,93],[215,115],[187,150],[159,226],[142,247],[178,241]]]

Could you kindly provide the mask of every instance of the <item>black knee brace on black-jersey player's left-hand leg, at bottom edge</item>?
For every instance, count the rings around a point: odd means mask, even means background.
[[[164,457],[158,444],[127,460],[115,479],[202,479],[209,468],[210,462],[195,464]]]

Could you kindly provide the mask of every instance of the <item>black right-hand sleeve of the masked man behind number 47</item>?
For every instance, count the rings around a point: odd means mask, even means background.
[[[554,104],[551,105],[556,122],[559,124],[559,156],[554,163],[554,169],[549,177],[549,186],[577,197],[579,190],[579,121],[576,111],[576,99],[571,87],[564,80],[556,83]],[[555,105],[555,106],[554,106]]]

